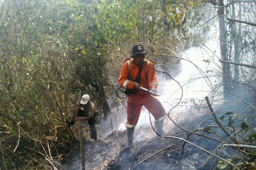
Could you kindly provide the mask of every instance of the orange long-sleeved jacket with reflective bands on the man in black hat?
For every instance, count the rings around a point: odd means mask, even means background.
[[[132,62],[132,63],[131,63]],[[129,66],[131,64],[131,74],[129,75]],[[147,72],[145,71],[147,70]],[[121,70],[121,74],[118,80],[120,86],[126,89],[133,89],[135,84],[135,79],[139,74],[139,67],[135,65],[133,60],[128,60],[124,63],[123,68]],[[151,89],[152,87],[157,87],[157,79],[156,79],[156,72],[154,70],[154,64],[151,61],[145,60],[143,62],[140,80],[142,87],[146,89]],[[139,94],[146,94],[145,91],[139,90],[136,95]]]

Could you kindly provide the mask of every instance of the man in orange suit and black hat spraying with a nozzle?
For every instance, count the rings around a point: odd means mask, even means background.
[[[126,61],[121,70],[118,80],[120,86],[126,89],[127,96],[127,128],[128,142],[125,149],[131,149],[133,141],[134,127],[136,126],[141,108],[145,108],[155,118],[155,129],[159,135],[163,134],[163,120],[165,119],[165,108],[155,97],[148,92],[140,89],[144,87],[153,92],[157,92],[157,78],[154,70],[154,64],[145,60],[148,51],[144,50],[142,45],[132,47],[132,59]]]

